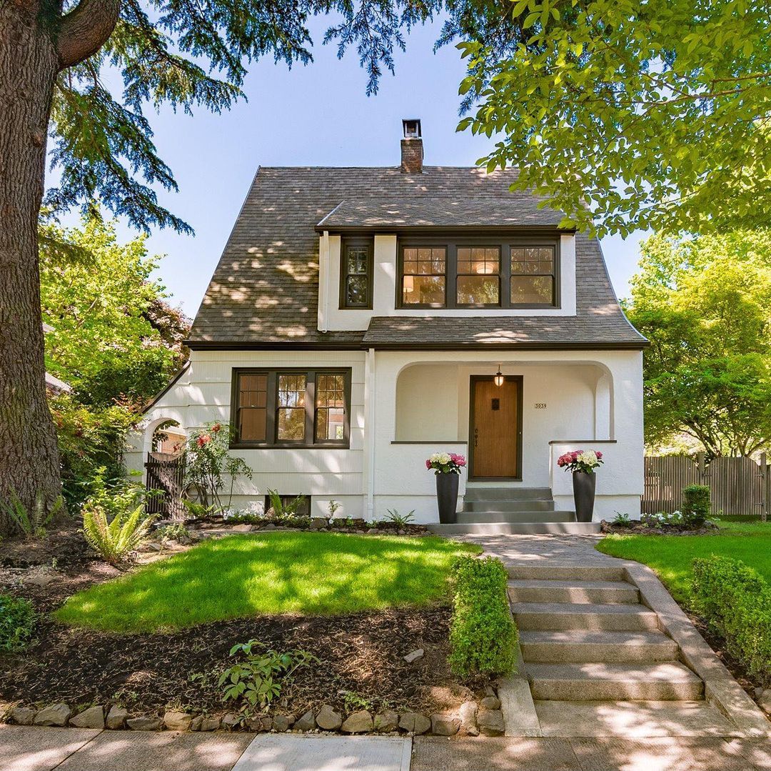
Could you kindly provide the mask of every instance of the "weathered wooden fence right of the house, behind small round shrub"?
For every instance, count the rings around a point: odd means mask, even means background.
[[[709,485],[712,514],[755,515],[766,519],[771,501],[771,473],[766,455],[752,458],[713,458],[704,454],[645,458],[642,513],[673,512],[682,507],[686,485]]]

